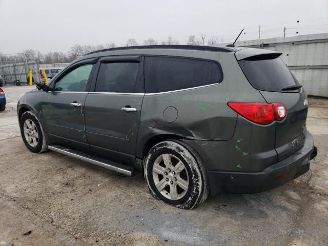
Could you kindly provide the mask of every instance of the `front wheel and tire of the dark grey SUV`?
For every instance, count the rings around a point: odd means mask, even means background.
[[[20,117],[19,127],[26,148],[34,153],[48,150],[46,135],[33,111],[27,111]]]

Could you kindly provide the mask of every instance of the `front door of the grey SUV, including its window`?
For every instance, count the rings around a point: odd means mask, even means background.
[[[84,121],[84,103],[96,60],[86,60],[68,68],[51,84],[46,93],[43,115],[46,132],[51,138],[67,144],[84,143],[87,146]]]

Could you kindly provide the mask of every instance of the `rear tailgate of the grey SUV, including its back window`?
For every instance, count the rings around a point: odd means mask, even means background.
[[[238,61],[253,87],[267,103],[283,103],[287,116],[276,122],[275,149],[278,160],[303,146],[308,100],[294,75],[279,58],[280,53],[262,54]]]

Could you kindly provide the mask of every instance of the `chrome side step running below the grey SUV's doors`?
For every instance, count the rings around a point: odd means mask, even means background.
[[[85,154],[83,152],[79,152],[76,150],[71,150],[68,148],[65,148],[60,145],[49,145],[48,146],[49,150],[58,152],[60,154],[68,155],[89,163],[92,163],[94,165],[97,165],[99,167],[107,168],[109,170],[122,173],[128,176],[133,176],[134,175],[134,169],[128,166],[121,165],[119,163],[110,161],[110,160],[105,160],[102,158],[98,158],[92,155]]]

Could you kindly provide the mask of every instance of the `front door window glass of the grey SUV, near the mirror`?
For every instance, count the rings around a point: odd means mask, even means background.
[[[81,65],[56,81],[55,91],[86,91],[92,64]]]

